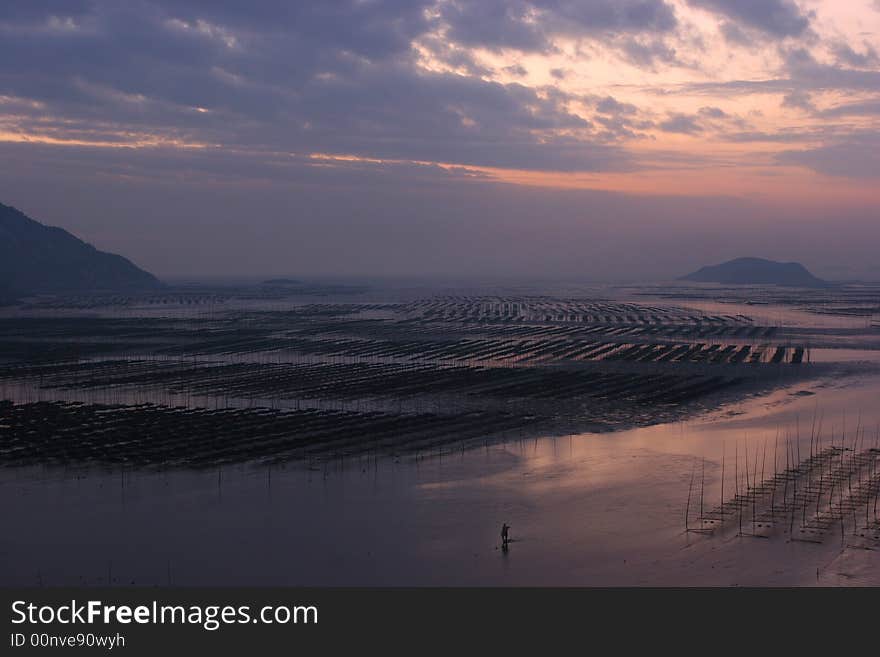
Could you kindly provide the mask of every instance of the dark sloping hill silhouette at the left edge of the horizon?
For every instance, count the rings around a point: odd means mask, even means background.
[[[0,301],[31,294],[155,289],[162,283],[114,253],[0,203]]]

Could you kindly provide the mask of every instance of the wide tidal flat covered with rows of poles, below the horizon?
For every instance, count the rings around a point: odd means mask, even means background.
[[[0,581],[877,583],[851,300],[259,292],[4,311]]]

